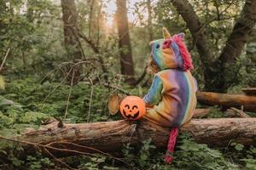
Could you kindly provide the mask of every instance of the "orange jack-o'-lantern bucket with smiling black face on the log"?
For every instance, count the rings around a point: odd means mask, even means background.
[[[146,106],[143,99],[137,96],[128,96],[121,102],[120,112],[125,119],[137,120],[145,115]]]

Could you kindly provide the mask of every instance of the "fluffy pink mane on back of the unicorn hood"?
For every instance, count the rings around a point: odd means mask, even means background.
[[[194,66],[192,64],[191,55],[189,54],[189,51],[185,43],[183,42],[183,37],[175,35],[172,37],[172,41],[177,43],[177,47],[179,48],[179,52],[181,54],[181,57],[183,58],[183,70],[187,71],[193,69]]]

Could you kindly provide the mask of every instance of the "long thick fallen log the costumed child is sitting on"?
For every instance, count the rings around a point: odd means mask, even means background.
[[[54,156],[70,156],[99,150],[119,151],[123,144],[129,142],[131,145],[137,145],[149,138],[157,148],[166,148],[169,136],[169,128],[145,121],[137,124],[132,135],[134,124],[125,120],[64,124],[64,127],[58,127],[57,124],[58,122],[52,122],[38,130],[28,129],[20,137],[13,139],[15,142],[20,141],[26,154],[35,152],[35,148],[43,147]],[[181,127],[180,132],[190,133],[196,142],[204,144],[256,144],[256,118],[192,119]],[[6,138],[0,136],[1,140]]]

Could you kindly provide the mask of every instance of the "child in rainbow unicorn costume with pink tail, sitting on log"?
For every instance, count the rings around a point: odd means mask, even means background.
[[[147,113],[143,118],[163,127],[172,127],[167,146],[166,162],[172,157],[177,138],[177,127],[189,122],[196,105],[197,83],[190,69],[192,60],[179,33],[171,37],[163,28],[164,38],[150,42],[152,52],[148,63],[154,80],[143,100]]]

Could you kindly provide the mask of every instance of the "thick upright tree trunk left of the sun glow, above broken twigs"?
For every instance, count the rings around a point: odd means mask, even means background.
[[[77,33],[77,8],[74,0],[61,0],[62,20],[64,28],[64,44],[67,49],[68,59],[73,63],[82,59],[82,49],[79,48],[79,37]],[[67,71],[71,72],[67,78],[71,85],[79,82],[81,67],[79,65],[68,65]],[[65,75],[66,76],[66,75]]]

